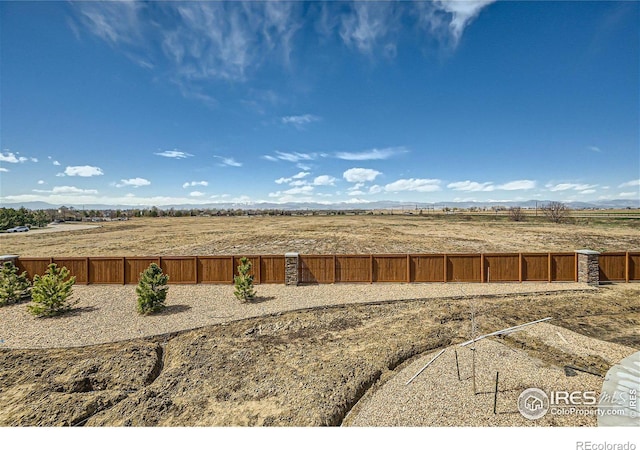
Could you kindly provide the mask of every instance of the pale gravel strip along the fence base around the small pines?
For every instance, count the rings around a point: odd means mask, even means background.
[[[581,283],[424,283],[257,285],[258,299],[243,304],[232,285],[170,285],[167,309],[136,312],[135,285],[75,286],[76,309],[54,318],[35,318],[25,304],[0,308],[0,348],[73,347],[115,342],[205,325],[318,306],[417,298],[588,290]]]

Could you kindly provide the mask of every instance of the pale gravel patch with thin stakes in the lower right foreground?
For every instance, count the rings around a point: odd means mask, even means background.
[[[599,355],[612,365],[636,350],[603,342],[548,323],[518,331],[526,339],[544,341],[567,355]],[[456,368],[456,354],[460,378]],[[425,354],[401,370],[380,389],[365,396],[347,418],[351,426],[596,426],[597,405],[551,407],[547,414],[530,420],[520,414],[518,397],[528,388],[551,391],[602,391],[603,378],[577,372],[567,377],[562,367],[529,357],[523,350],[506,346],[500,339],[476,343],[476,393],[473,391],[470,347],[450,346],[409,385],[411,379],[438,351]],[[570,358],[570,356],[567,356]],[[496,372],[498,401],[493,412]]]

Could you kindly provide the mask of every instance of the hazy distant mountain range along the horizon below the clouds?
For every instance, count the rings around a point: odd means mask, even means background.
[[[520,206],[522,208],[535,208],[550,202],[551,200],[527,200],[527,201],[508,201],[508,202],[435,202],[435,203],[416,203],[416,202],[395,202],[395,201],[376,201],[368,203],[208,203],[208,204],[182,204],[182,205],[166,205],[158,206],[159,209],[185,210],[185,209],[279,209],[279,210],[379,210],[379,209],[443,209],[443,208],[491,208],[494,206],[502,206],[510,208],[512,206]],[[563,202],[572,209],[620,209],[620,208],[640,208],[638,200],[598,200],[593,202]],[[77,210],[105,210],[105,209],[149,209],[145,205],[54,205],[46,202],[24,202],[24,203],[0,203],[2,208],[20,208],[25,207],[31,210],[37,209],[58,209],[61,206],[72,207]]]

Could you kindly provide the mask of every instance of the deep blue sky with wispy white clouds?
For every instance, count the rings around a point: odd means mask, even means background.
[[[0,2],[0,201],[640,201],[640,4]]]

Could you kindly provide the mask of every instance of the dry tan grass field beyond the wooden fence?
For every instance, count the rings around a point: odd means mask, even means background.
[[[2,254],[144,256],[333,253],[552,252],[640,248],[640,221],[573,224],[457,216],[136,218],[100,228],[15,233]]]

